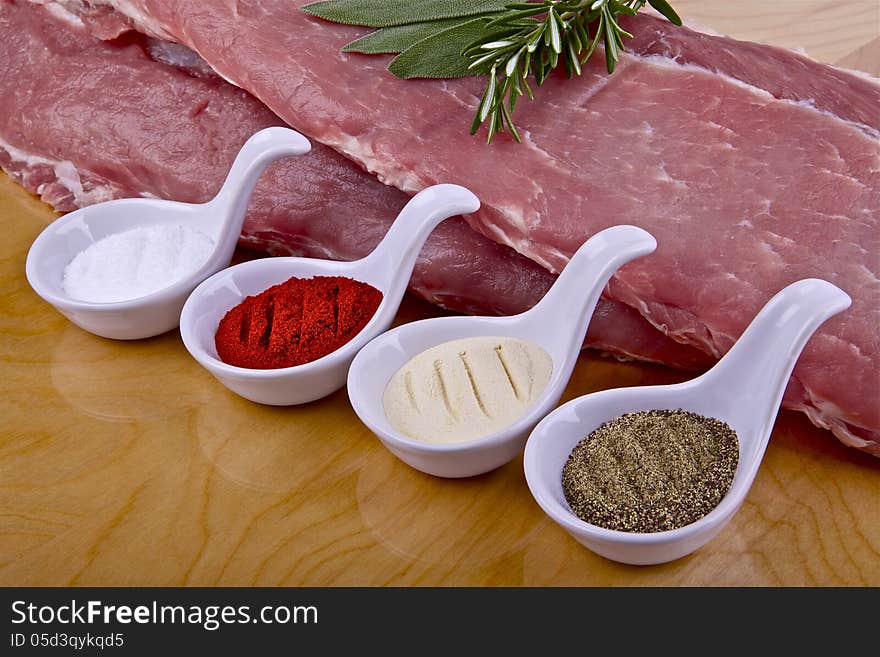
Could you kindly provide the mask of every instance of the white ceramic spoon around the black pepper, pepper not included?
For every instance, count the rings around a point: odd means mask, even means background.
[[[807,340],[850,303],[831,283],[798,281],[774,296],[733,348],[702,376],[676,385],[605,390],[563,404],[535,427],[526,445],[526,480],[538,504],[581,544],[614,561],[657,564],[698,549],[743,503]],[[679,408],[724,420],[737,433],[739,466],[721,503],[690,525],[653,534],[604,529],[575,516],[562,492],[562,468],[574,446],[624,413]]]

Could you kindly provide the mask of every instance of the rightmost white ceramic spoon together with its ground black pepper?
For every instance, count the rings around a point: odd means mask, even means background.
[[[798,281],[702,376],[560,406],[526,444],[535,500],[578,542],[614,561],[664,563],[702,547],[745,500],[807,341],[850,303],[827,281]]]

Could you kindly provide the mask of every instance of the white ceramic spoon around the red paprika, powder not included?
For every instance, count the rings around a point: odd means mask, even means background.
[[[304,404],[345,384],[352,358],[390,325],[409,283],[413,266],[431,231],[444,219],[476,212],[480,201],[458,185],[434,185],[416,194],[401,210],[376,249],[353,262],[317,258],[264,258],[218,272],[192,293],[180,317],[183,343],[203,367],[233,392],[276,406]],[[226,313],[245,297],[259,294],[291,277],[346,276],[382,292],[373,318],[336,351],[294,367],[259,370],[224,363],[214,335]]]

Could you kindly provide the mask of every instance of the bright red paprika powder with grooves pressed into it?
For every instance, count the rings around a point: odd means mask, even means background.
[[[326,356],[367,325],[382,302],[372,285],[343,276],[291,278],[247,297],[220,320],[220,360],[274,369]]]

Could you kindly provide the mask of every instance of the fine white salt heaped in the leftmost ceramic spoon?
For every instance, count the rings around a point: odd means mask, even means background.
[[[210,237],[180,224],[108,235],[70,261],[64,291],[97,303],[137,299],[189,276],[213,250]]]

